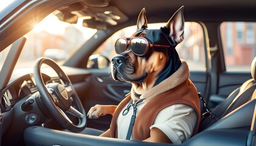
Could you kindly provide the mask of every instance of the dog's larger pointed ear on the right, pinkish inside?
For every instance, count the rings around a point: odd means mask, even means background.
[[[166,27],[170,30],[169,37],[175,44],[179,44],[184,40],[183,9],[184,6],[180,7],[166,24]]]

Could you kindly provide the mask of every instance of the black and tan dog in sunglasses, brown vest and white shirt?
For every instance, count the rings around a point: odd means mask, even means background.
[[[118,106],[95,105],[89,118],[112,114],[101,136],[182,144],[197,133],[200,106],[188,65],[175,47],[184,40],[183,6],[160,29],[148,29],[146,10],[138,16],[137,32],[119,38],[112,58],[114,80],[132,83]]]

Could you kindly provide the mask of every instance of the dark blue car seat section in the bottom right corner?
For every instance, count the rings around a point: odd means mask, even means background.
[[[252,128],[255,122],[255,105],[256,89],[251,96],[251,100],[191,137],[182,145],[254,145],[252,142]]]

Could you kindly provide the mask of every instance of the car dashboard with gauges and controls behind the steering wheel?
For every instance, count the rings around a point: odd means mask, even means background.
[[[88,85],[87,77],[90,76],[91,71],[68,66],[61,66],[61,68],[73,84],[82,85],[82,88],[84,84]],[[48,127],[59,127],[54,120],[51,122],[53,119],[51,113],[41,102],[38,85],[34,81],[32,72],[32,68],[14,69],[9,82],[0,91],[0,137],[4,135],[6,142],[15,143],[13,135],[20,135],[15,139],[23,141],[23,132],[30,125],[47,123]],[[48,83],[63,85],[63,81],[52,68],[41,68],[41,78],[44,85]],[[28,99],[34,99],[34,101]]]

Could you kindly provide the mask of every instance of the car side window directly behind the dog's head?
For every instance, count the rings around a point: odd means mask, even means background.
[[[159,29],[165,23],[148,24],[149,29]],[[137,26],[126,27],[119,30],[108,38],[93,54],[101,54],[112,59],[115,53],[115,41],[120,37],[131,36]],[[176,50],[181,59],[187,61],[191,71],[205,71],[205,46],[204,33],[200,24],[195,22],[185,23],[184,41],[176,46]]]

